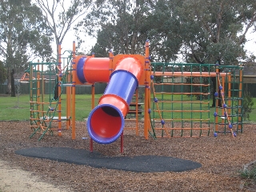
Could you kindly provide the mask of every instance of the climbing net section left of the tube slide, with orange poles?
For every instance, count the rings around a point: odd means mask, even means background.
[[[71,79],[68,63],[70,58],[62,58],[61,53],[58,54],[58,62],[30,62],[20,79],[30,83],[30,127],[34,130],[30,138],[42,132],[41,140],[46,133],[53,134],[54,130],[58,130],[61,136],[62,121],[66,121],[66,129],[70,128],[70,87],[66,88],[66,116],[62,116],[61,99],[63,87],[66,86],[63,82]],[[63,69],[62,64],[65,65]]]

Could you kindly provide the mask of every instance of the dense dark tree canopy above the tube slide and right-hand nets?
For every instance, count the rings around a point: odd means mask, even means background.
[[[227,65],[246,57],[246,34],[256,23],[256,2],[251,0],[98,1],[90,14],[97,37],[92,51],[106,55],[142,54],[150,39],[154,61]],[[97,26],[98,27],[95,27]]]

